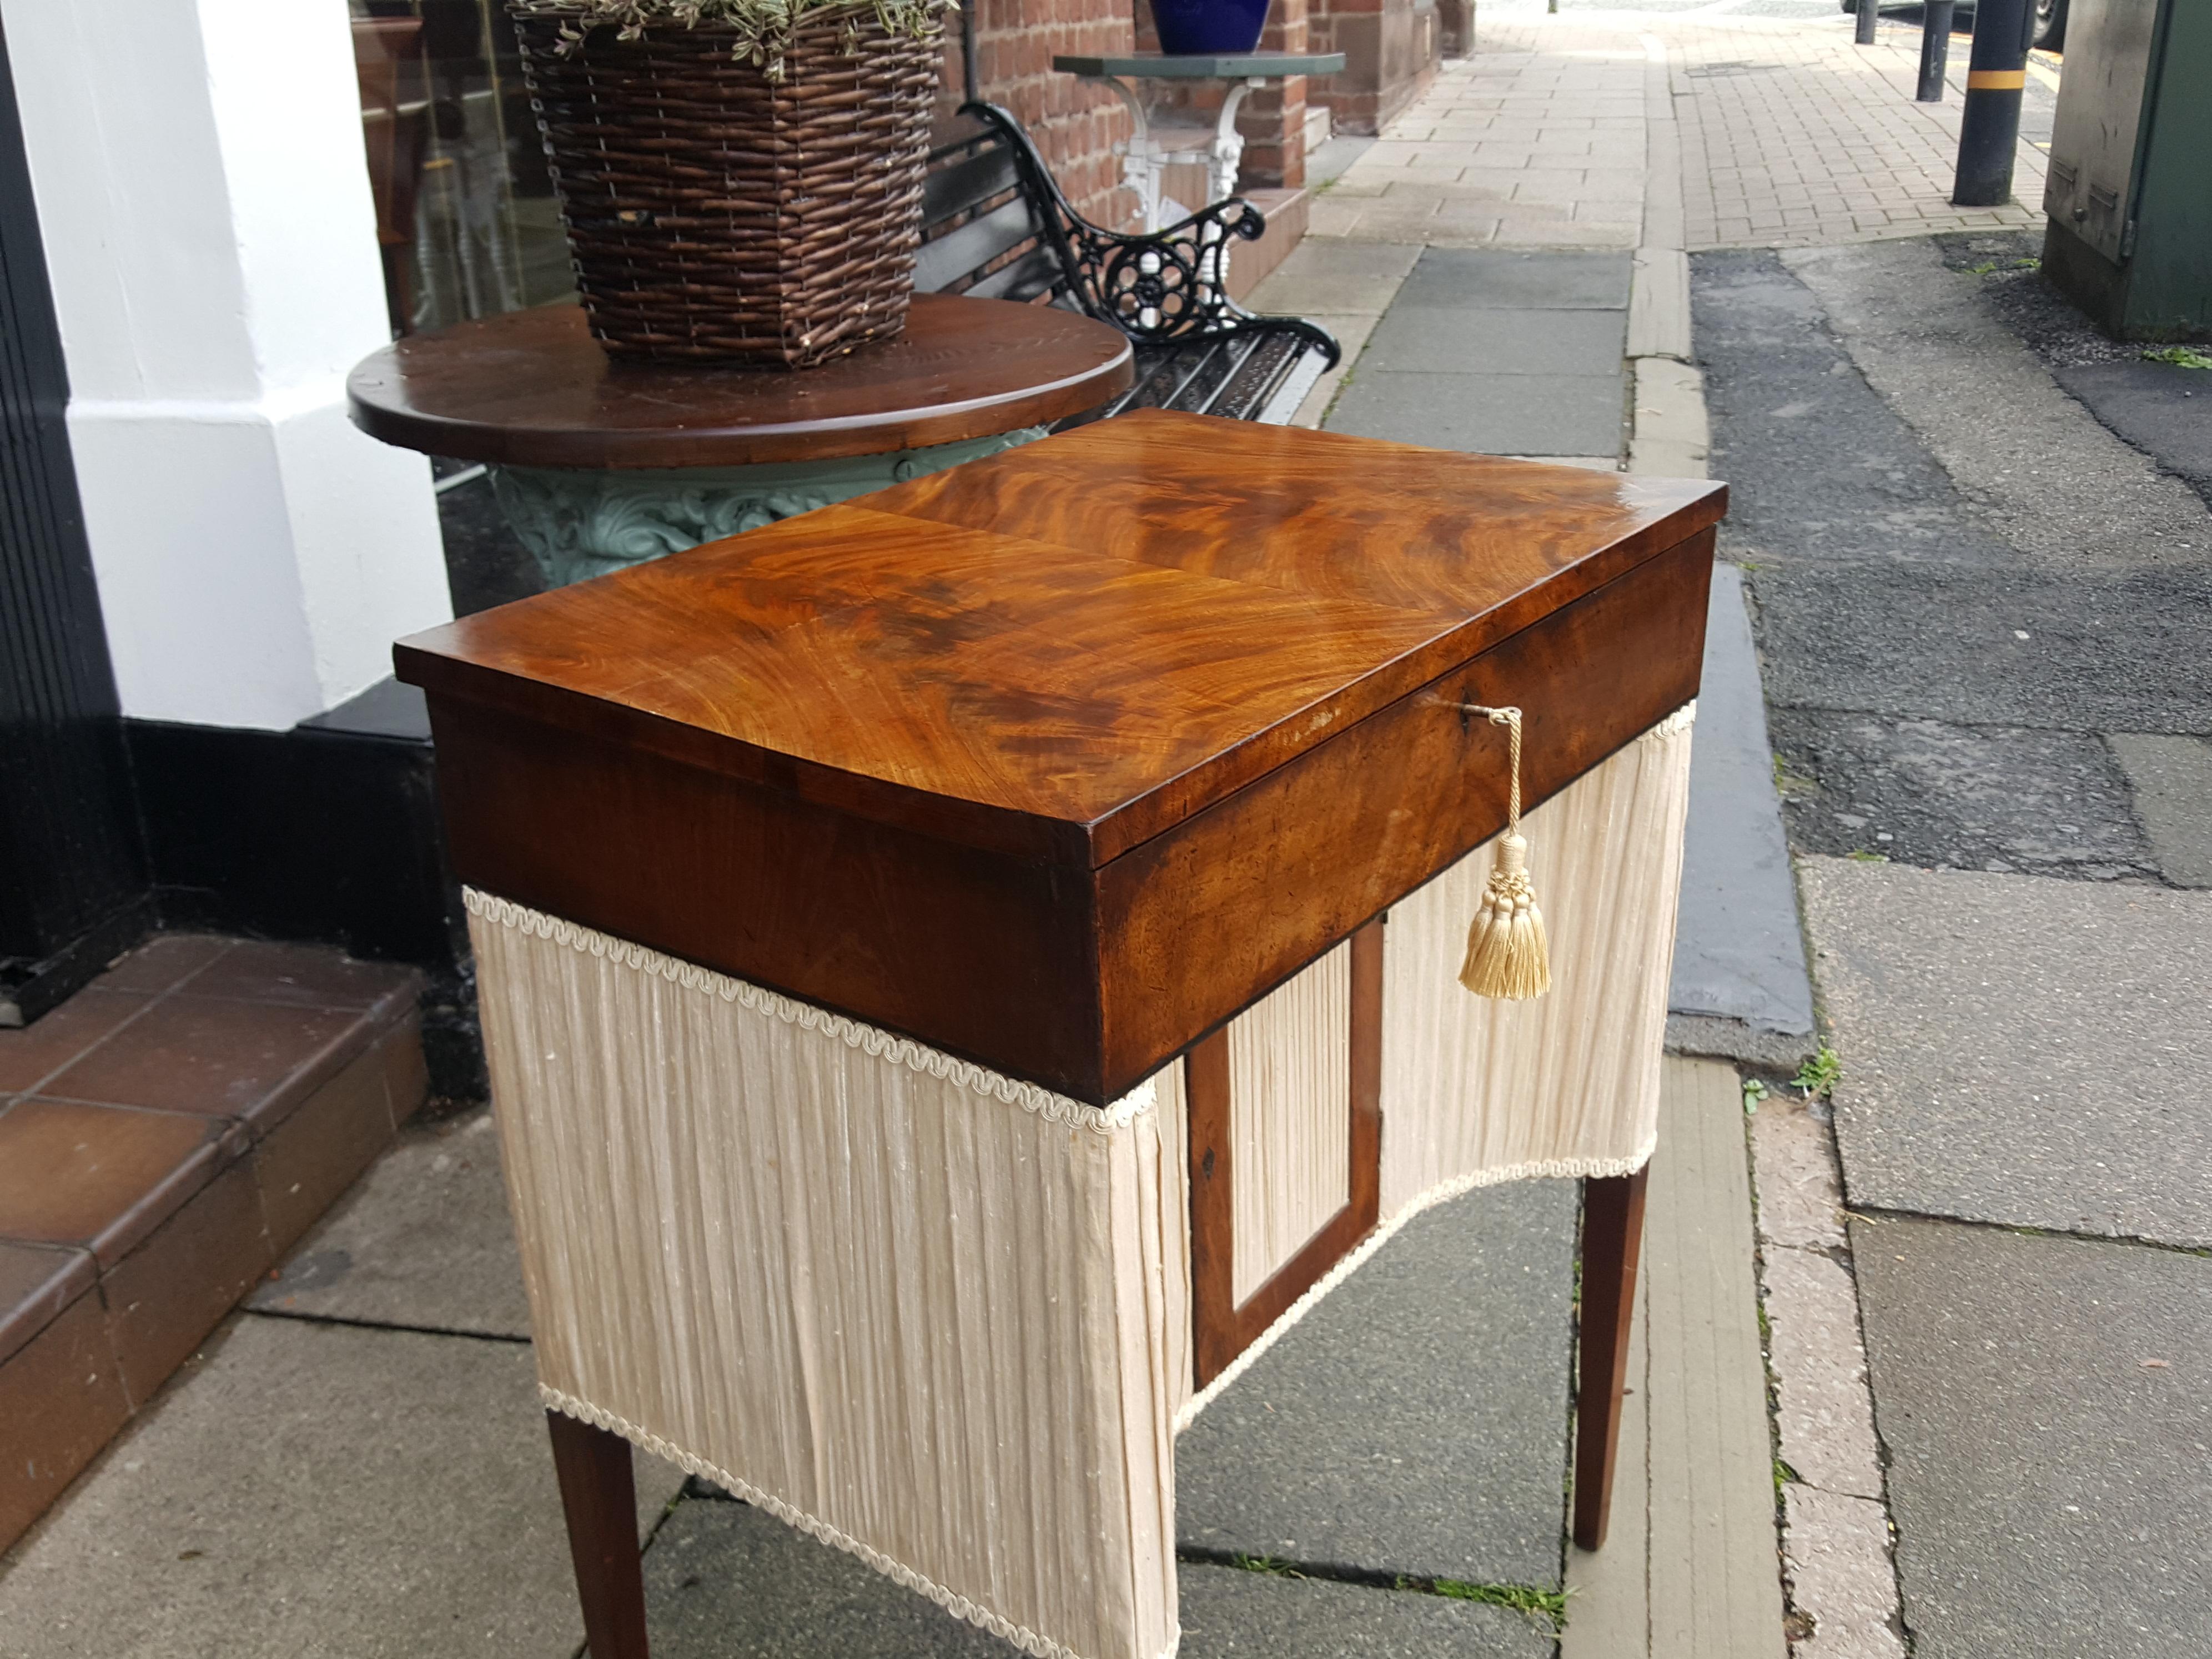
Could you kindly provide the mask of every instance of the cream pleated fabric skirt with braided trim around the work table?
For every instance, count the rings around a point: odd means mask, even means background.
[[[469,891],[557,1411],[1022,1652],[1175,1652],[1175,1433],[1422,1208],[1650,1157],[1690,708],[1524,821],[1553,991],[1458,984],[1491,852],[1389,909],[1383,1221],[1192,1389],[1183,1068],[1108,1108]],[[1230,1029],[1239,1298],[1349,1181],[1338,947]]]

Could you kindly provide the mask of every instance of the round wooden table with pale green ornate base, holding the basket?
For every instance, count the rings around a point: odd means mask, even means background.
[[[617,363],[580,305],[376,352],[354,425],[478,460],[560,586],[1042,438],[1130,385],[1119,330],[998,299],[916,294],[907,332],[814,369]]]

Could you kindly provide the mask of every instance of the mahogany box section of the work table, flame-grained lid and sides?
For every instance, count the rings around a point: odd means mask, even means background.
[[[1721,484],[1144,411],[416,635],[473,885],[1106,1102],[1697,695]]]

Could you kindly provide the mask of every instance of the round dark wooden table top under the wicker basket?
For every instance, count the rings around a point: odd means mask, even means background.
[[[498,467],[754,467],[991,438],[1128,389],[1128,338],[1088,316],[916,294],[907,330],[814,369],[617,363],[584,307],[409,334],[347,376],[354,425]]]

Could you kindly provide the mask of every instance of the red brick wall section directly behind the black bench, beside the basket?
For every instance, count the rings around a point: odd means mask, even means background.
[[[964,4],[967,15],[951,18],[945,31],[942,122],[960,106],[960,29],[971,22],[978,95],[1020,117],[1077,212],[1102,226],[1130,226],[1137,197],[1121,188],[1121,159],[1113,153],[1128,137],[1128,111],[1110,91],[1053,69],[1053,53],[1130,51],[1130,0]]]

